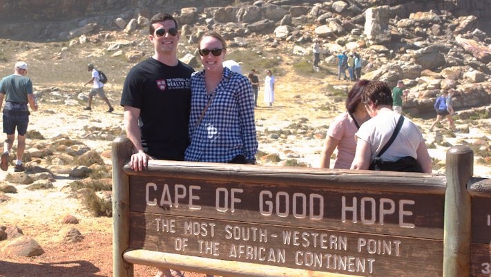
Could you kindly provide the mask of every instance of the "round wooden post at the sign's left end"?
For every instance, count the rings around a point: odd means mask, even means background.
[[[123,173],[123,164],[132,153],[133,144],[128,138],[117,137],[113,141],[113,277],[133,277],[133,264],[123,259],[130,242],[130,182]]]

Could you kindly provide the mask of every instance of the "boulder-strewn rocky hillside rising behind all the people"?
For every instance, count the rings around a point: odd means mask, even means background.
[[[180,55],[191,64],[198,37],[209,29],[218,30],[239,51],[276,49],[305,60],[311,55],[311,42],[318,39],[323,65],[336,66],[335,55],[342,51],[358,52],[364,78],[391,86],[404,79],[411,90],[405,111],[432,111],[434,98],[449,88],[458,92],[457,109],[491,103],[491,37],[486,32],[491,24],[482,15],[491,12],[488,0],[61,3],[3,3],[0,18],[10,23],[0,29],[0,37],[70,41],[70,47],[92,44],[106,57],[123,56],[134,63],[151,51],[144,44],[150,11],[165,6],[180,23],[182,41],[187,42]],[[62,56],[57,53],[52,59]]]

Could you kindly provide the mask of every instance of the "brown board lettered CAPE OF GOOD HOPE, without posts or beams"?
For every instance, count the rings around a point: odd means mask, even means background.
[[[155,175],[130,177],[131,249],[357,276],[442,274],[443,193],[408,193],[397,180],[377,191]]]

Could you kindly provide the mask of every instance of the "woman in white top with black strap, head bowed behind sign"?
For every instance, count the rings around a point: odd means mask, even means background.
[[[392,92],[385,82],[372,81],[365,86],[362,102],[372,119],[355,134],[356,153],[351,169],[368,169],[374,157],[389,141],[400,116],[392,111]],[[401,157],[414,157],[425,173],[432,173],[432,160],[418,127],[404,119],[401,131],[381,158],[395,162]]]

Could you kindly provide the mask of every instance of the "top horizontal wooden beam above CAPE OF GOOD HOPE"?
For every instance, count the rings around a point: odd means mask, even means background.
[[[354,171],[338,169],[301,169],[296,167],[257,166],[249,164],[217,164],[206,162],[148,161],[148,170],[133,171],[129,164],[124,173],[130,176],[213,180],[222,182],[298,184],[339,189],[398,191],[444,195],[444,175],[389,171]]]

